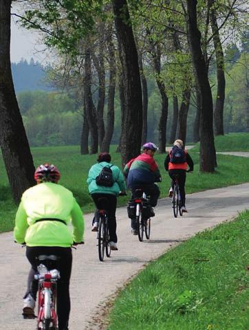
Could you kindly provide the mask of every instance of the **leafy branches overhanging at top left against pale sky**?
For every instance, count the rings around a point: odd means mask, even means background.
[[[46,0],[36,1],[25,10],[21,20],[25,28],[47,33],[45,44],[61,54],[78,55],[80,41],[94,28],[96,17],[102,16],[102,1]]]

